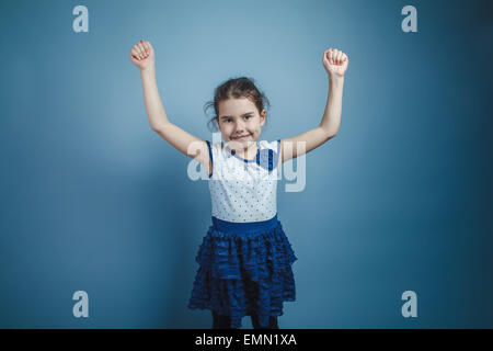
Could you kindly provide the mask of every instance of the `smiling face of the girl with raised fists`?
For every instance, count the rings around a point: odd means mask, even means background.
[[[246,149],[260,137],[265,123],[265,110],[259,113],[248,98],[228,99],[219,102],[218,124],[222,139],[231,149]]]

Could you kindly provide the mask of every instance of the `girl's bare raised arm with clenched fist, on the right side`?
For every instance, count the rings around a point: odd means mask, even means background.
[[[348,63],[347,55],[341,50],[330,48],[323,53],[322,64],[328,73],[329,93],[322,121],[317,128],[280,140],[282,162],[318,148],[337,134],[341,124],[344,73]]]

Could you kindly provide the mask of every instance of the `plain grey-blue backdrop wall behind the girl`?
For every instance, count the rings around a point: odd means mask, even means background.
[[[279,183],[299,259],[280,328],[493,327],[488,3],[1,1],[0,327],[210,327],[186,308],[207,183],[149,126],[128,58],[141,38],[170,120],[202,138],[204,103],[240,75],[272,102],[262,139],[317,126],[322,53],[349,56],[339,135],[307,156],[305,191]],[[89,318],[72,316],[79,290]]]

